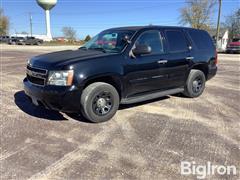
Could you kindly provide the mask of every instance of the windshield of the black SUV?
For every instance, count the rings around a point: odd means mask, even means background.
[[[135,31],[103,31],[88,41],[81,49],[101,50],[109,53],[119,53],[130,40]]]

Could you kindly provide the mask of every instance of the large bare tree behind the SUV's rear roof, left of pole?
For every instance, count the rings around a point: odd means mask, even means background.
[[[186,4],[186,7],[180,9],[180,23],[208,30],[216,0],[186,0]]]

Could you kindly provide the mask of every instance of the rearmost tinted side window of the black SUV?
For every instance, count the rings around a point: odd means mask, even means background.
[[[191,29],[188,30],[188,33],[199,50],[208,50],[213,48],[212,39],[207,32]]]

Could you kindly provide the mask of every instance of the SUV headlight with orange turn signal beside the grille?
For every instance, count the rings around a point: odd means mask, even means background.
[[[73,70],[50,71],[48,75],[48,85],[71,86],[73,82]]]

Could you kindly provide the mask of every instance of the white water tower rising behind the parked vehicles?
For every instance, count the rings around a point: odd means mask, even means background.
[[[50,10],[57,4],[57,0],[37,0],[37,3],[45,10],[47,37],[49,40],[52,40],[50,27]]]

